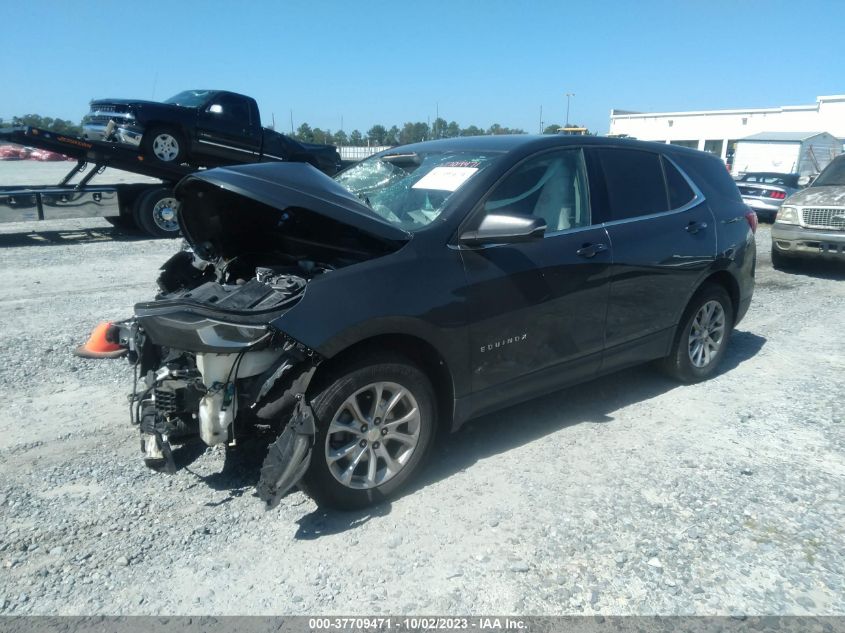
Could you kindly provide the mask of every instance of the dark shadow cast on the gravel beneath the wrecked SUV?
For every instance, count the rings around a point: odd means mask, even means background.
[[[730,372],[753,358],[766,344],[762,336],[735,331],[722,360],[720,374]],[[657,370],[633,367],[597,378],[575,388],[557,391],[467,422],[454,435],[442,438],[435,447],[428,468],[405,494],[472,467],[477,461],[509,451],[533,440],[575,424],[607,424],[616,420],[614,412],[627,405],[648,400],[673,389],[683,388]],[[283,501],[284,503],[284,501]],[[295,538],[316,539],[353,529],[376,516],[390,513],[390,504],[357,512],[318,508],[297,521]]]

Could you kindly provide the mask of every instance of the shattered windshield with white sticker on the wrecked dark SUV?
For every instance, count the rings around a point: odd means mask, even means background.
[[[436,220],[449,197],[498,156],[400,148],[363,160],[335,179],[382,219],[415,231]]]

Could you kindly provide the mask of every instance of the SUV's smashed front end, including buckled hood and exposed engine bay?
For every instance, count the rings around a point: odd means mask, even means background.
[[[320,277],[390,253],[406,235],[307,165],[198,172],[177,195],[187,246],[162,266],[155,299],[107,334],[135,365],[143,459],[172,472],[177,440],[234,446],[267,427],[280,435],[258,489],[273,506],[310,462],[306,392],[322,361],[280,323]]]

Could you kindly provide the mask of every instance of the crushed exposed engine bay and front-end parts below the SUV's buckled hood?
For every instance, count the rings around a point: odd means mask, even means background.
[[[111,336],[129,348],[135,364],[131,419],[150,468],[175,471],[174,442],[199,436],[209,446],[233,446],[257,425],[287,429],[280,423],[285,414],[305,406],[319,356],[269,321],[298,301],[309,280],[332,268],[274,261],[249,275],[249,262],[212,264],[181,251],[162,268],[156,300],[114,326]],[[290,468],[280,472],[285,480],[262,481],[269,505],[308,465],[313,424],[303,426],[306,417],[300,411],[299,423],[277,440],[274,455],[284,454]]]

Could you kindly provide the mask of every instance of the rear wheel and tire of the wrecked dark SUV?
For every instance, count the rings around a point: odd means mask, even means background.
[[[725,355],[733,314],[733,303],[722,286],[702,286],[684,310],[672,351],[661,361],[663,371],[685,383],[710,378]]]

